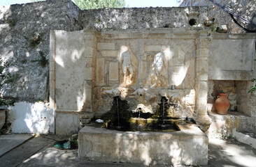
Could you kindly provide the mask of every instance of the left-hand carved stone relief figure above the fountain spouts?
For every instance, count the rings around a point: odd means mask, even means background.
[[[123,75],[122,86],[126,87],[134,81],[134,75],[136,74],[138,65],[136,56],[127,46],[121,47],[120,64],[122,65],[121,70]]]

